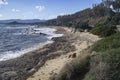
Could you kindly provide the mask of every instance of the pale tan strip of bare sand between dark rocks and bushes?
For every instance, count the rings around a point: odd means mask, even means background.
[[[70,55],[81,55],[82,50],[88,48],[96,41],[100,40],[98,36],[90,34],[89,32],[72,33],[71,29],[69,28],[64,28],[64,30],[66,31],[66,33],[64,33],[64,36],[69,36],[69,40],[71,41],[71,44],[75,46],[76,50],[68,52],[67,54],[61,55],[54,59],[47,60],[45,64],[27,80],[50,80],[50,77],[57,75],[65,64],[75,59],[70,58]],[[56,53],[57,52],[62,52],[62,50],[58,50]]]

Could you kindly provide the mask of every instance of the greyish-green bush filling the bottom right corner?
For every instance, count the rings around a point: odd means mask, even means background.
[[[120,48],[94,56],[84,80],[120,80]]]

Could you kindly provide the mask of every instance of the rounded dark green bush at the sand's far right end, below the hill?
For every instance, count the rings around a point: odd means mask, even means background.
[[[116,33],[116,27],[111,26],[111,25],[97,24],[91,30],[91,33],[98,35],[100,37],[107,37],[107,36],[111,36],[112,34]]]

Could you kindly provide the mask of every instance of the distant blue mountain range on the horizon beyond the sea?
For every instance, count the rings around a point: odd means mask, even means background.
[[[39,23],[39,22],[45,22],[46,20],[40,20],[40,19],[26,19],[26,20],[21,20],[21,19],[10,19],[10,20],[0,20],[0,23]]]

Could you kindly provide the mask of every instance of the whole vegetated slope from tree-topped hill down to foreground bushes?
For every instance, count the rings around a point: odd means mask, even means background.
[[[83,23],[86,25],[81,25]],[[89,28],[91,33],[102,37],[84,51],[82,58],[66,64],[52,80],[120,80],[120,32],[116,28],[120,25],[120,0],[102,0],[92,9],[59,16],[48,24],[80,31]]]

